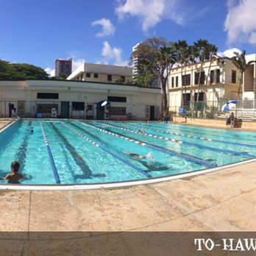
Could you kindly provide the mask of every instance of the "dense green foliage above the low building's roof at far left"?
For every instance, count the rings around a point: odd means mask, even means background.
[[[0,60],[0,80],[49,79],[43,68]]]

